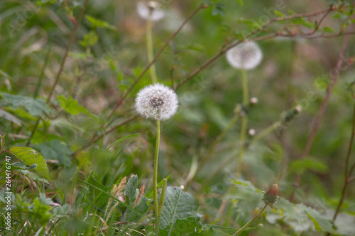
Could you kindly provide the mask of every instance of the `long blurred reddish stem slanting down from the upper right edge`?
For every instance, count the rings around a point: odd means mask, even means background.
[[[351,31],[351,28],[353,28],[353,26],[354,25],[350,25],[348,31]],[[327,92],[325,94],[322,105],[320,106],[320,111],[318,111],[317,117],[315,118],[315,123],[313,123],[312,129],[310,131],[310,136],[308,137],[308,140],[307,140],[305,150],[304,150],[302,156],[300,157],[301,159],[305,159],[308,156],[308,154],[310,154],[310,149],[312,147],[313,140],[315,139],[315,134],[317,133],[317,130],[320,126],[320,121],[322,120],[322,117],[324,115],[324,111],[327,108],[330,95],[332,94],[332,90],[334,88],[334,84],[335,84],[335,82],[337,82],[337,79],[339,77],[339,72],[342,67],[342,63],[344,61],[344,52],[346,50],[346,46],[349,43],[349,38],[350,38],[349,34],[346,35],[344,38],[342,50],[340,51],[339,60],[337,62],[337,67],[335,67],[332,80],[330,81],[330,84],[327,88]],[[297,186],[299,186],[299,184],[300,184],[300,174],[297,174],[295,176],[295,180],[293,181],[293,186],[297,187]],[[293,193],[291,194],[290,201],[293,201],[294,195],[295,195],[295,191],[293,191]]]

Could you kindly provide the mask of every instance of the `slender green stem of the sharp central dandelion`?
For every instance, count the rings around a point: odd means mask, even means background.
[[[160,120],[156,120],[156,142],[154,154],[153,195],[155,213],[155,235],[159,233],[159,207],[158,207],[158,154],[160,145]]]

